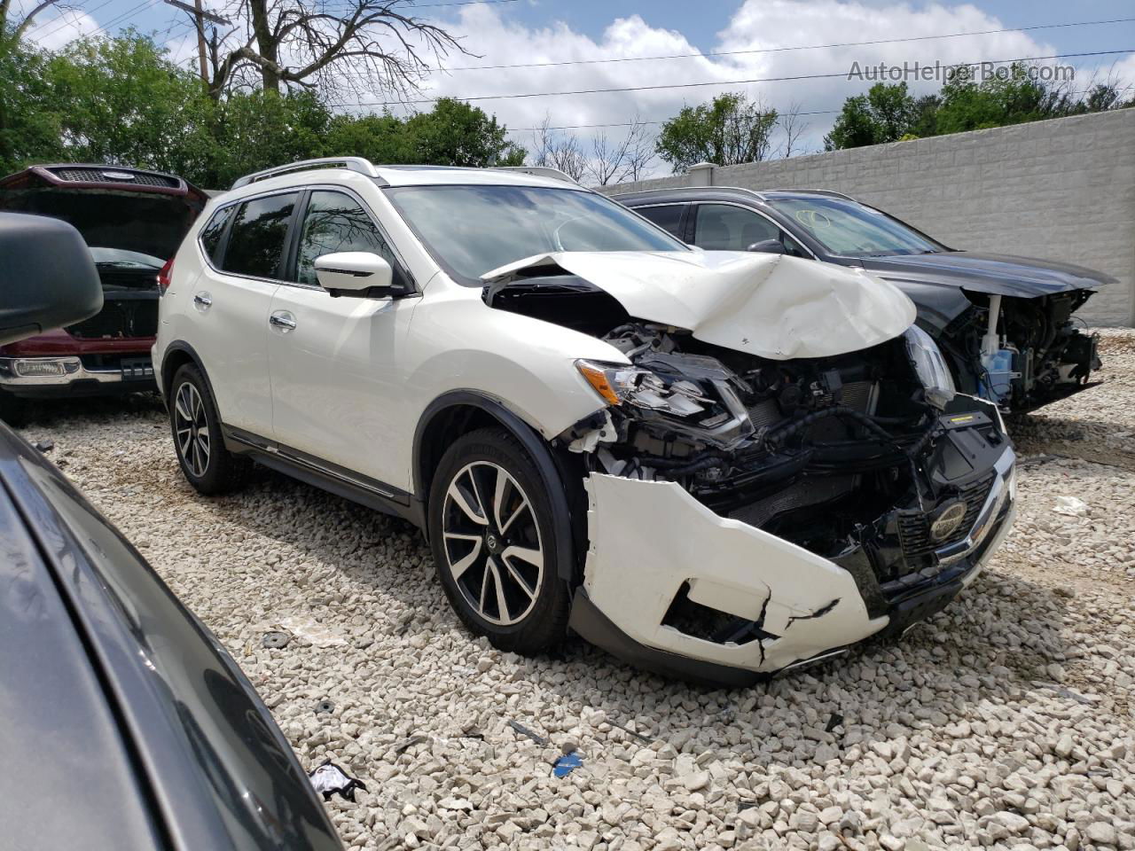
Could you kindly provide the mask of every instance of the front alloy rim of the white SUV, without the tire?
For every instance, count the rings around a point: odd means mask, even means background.
[[[442,509],[447,567],[485,621],[511,626],[536,605],[544,548],[532,503],[503,466],[474,461],[453,477]]]

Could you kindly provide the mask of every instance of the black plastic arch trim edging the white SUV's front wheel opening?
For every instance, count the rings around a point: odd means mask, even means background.
[[[560,576],[565,582],[574,583],[578,580],[578,571],[575,570],[571,509],[568,505],[568,491],[560,472],[560,465],[544,437],[495,397],[478,390],[449,390],[427,405],[418,420],[418,427],[414,429],[414,499],[422,506],[426,506],[429,500],[429,492],[424,487],[427,477],[422,470],[422,445],[426,430],[436,416],[447,408],[456,406],[476,407],[489,414],[520,441],[524,452],[536,464],[536,470],[548,495],[548,502],[552,504],[552,522],[556,524],[556,564]],[[424,516],[426,512],[422,514]],[[428,539],[429,530],[426,524],[422,525],[422,531]]]

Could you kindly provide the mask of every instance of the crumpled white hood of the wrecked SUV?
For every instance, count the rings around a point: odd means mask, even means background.
[[[857,352],[897,337],[915,321],[914,303],[894,285],[783,254],[553,252],[481,279],[505,284],[557,271],[605,290],[636,319],[777,361]]]

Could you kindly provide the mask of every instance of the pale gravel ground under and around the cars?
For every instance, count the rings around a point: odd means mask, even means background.
[[[367,783],[327,804],[350,846],[1135,849],[1135,331],[1104,354],[1105,385],[1012,423],[1016,531],[953,605],[733,692],[578,640],[497,652],[407,524],[267,472],[197,497],[153,399],[24,432],[229,648],[301,761]]]

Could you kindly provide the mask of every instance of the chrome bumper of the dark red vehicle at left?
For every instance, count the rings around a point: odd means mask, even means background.
[[[102,396],[153,390],[153,364],[138,353],[114,368],[84,364],[78,356],[0,357],[0,389],[25,398]]]

